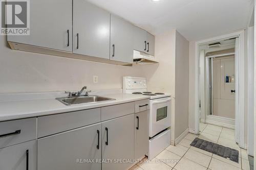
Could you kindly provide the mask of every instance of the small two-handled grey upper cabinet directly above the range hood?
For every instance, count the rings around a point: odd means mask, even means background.
[[[134,50],[155,55],[155,36],[134,26]]]

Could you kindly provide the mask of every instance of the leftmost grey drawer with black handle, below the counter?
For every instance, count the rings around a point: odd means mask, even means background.
[[[0,122],[0,148],[36,138],[36,117]]]

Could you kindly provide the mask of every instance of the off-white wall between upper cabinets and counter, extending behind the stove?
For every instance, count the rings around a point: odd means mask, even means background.
[[[43,92],[122,88],[123,76],[146,77],[148,90],[174,95],[175,30],[155,37],[159,64],[119,66],[65,57],[13,51],[0,36],[0,92]],[[98,83],[93,83],[93,76]]]

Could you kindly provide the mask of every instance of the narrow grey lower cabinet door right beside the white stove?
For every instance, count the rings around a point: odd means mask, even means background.
[[[135,114],[134,159],[144,158],[148,153],[149,110]]]

